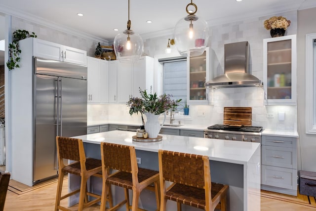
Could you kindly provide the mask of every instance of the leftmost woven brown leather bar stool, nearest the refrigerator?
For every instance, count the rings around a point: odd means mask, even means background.
[[[70,211],[68,208],[60,206],[60,201],[70,197],[76,193],[79,194],[79,206],[78,211],[82,211],[83,208],[89,207],[97,202],[101,201],[101,196],[90,193],[87,191],[87,180],[90,176],[98,176],[97,173],[102,171],[102,162],[101,160],[94,158],[86,158],[83,143],[81,139],[77,138],[68,138],[68,137],[56,137],[57,144],[57,155],[58,155],[58,184],[57,184],[57,194],[56,194],[56,203],[55,211],[63,210]],[[74,161],[71,164],[65,165],[64,159]],[[61,196],[63,179],[66,173],[72,173],[81,176],[80,189],[75,190],[71,193],[68,193],[64,196]],[[108,192],[107,192],[108,193]],[[110,207],[112,204],[112,195],[106,197],[109,198]],[[88,202],[88,196],[92,196],[96,199]]]

